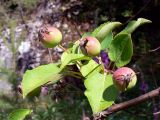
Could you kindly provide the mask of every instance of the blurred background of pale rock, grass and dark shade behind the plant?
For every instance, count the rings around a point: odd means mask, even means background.
[[[138,74],[134,89],[125,92],[123,102],[160,85],[160,0],[0,0],[0,120],[6,120],[15,108],[31,108],[26,120],[87,120],[91,108],[82,83],[65,78],[55,86],[43,88],[34,99],[22,99],[19,87],[23,73],[50,63],[47,49],[38,40],[37,31],[44,24],[59,28],[62,46],[80,38],[106,21],[143,17],[152,21],[133,34],[134,56],[129,64]],[[59,61],[63,50],[52,49],[52,59]],[[65,87],[64,87],[65,86]],[[160,120],[159,97],[119,111],[106,120]]]

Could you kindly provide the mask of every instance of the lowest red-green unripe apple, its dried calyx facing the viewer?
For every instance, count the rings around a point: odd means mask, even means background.
[[[113,73],[113,83],[120,91],[125,91],[134,87],[136,82],[136,73],[131,68],[122,67]]]

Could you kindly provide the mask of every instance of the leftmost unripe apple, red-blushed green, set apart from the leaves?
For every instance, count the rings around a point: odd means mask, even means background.
[[[62,33],[53,26],[44,26],[38,32],[39,40],[47,48],[53,48],[62,40]]]

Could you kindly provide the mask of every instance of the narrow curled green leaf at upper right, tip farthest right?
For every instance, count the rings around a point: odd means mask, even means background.
[[[128,23],[128,25],[126,26],[126,28],[122,31],[122,32],[127,32],[129,34],[131,34],[132,32],[134,32],[139,26],[146,24],[146,23],[151,23],[152,21],[147,20],[145,18],[138,18],[137,21],[133,20],[130,21]],[[122,33],[121,32],[121,33]]]

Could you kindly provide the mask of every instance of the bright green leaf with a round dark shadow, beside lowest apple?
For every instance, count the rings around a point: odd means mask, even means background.
[[[86,87],[85,95],[94,114],[101,112],[114,103],[118,91],[113,85],[111,74],[104,75],[93,72],[87,77],[84,84]]]

